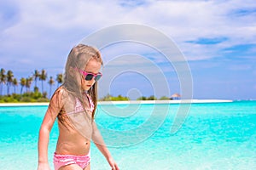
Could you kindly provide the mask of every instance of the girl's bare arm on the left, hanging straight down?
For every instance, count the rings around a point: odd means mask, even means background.
[[[55,122],[56,116],[61,111],[61,94],[56,93],[50,99],[48,110],[45,113],[44,120],[39,130],[38,139],[38,170],[49,169],[48,162],[48,144],[49,144],[49,133]]]

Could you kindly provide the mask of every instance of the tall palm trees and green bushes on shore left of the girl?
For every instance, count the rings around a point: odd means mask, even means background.
[[[56,79],[49,77],[47,79],[47,73],[43,69],[42,71],[35,70],[30,77],[21,77],[20,81],[14,76],[13,71],[6,71],[2,68],[0,70],[0,103],[7,102],[48,102],[47,92],[44,91],[44,82],[49,83],[49,94],[51,94],[52,86],[55,81],[58,85],[62,82],[62,74],[58,74]],[[38,88],[38,80],[41,81],[41,92]],[[33,92],[31,92],[32,82],[34,83]],[[17,94],[16,88],[20,85],[20,94]],[[3,86],[7,87],[6,95],[3,95]],[[10,89],[14,88],[13,94],[10,94]],[[24,92],[25,91],[25,92]]]

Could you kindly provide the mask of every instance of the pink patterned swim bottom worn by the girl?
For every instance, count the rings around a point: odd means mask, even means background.
[[[77,164],[79,167],[87,167],[90,163],[90,152],[86,156],[73,156],[73,155],[54,155],[54,165],[55,170],[58,170],[60,167],[70,165],[70,164]]]

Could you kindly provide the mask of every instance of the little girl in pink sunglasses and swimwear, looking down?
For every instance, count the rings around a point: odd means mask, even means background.
[[[64,82],[49,102],[38,139],[38,170],[49,170],[49,132],[58,118],[59,138],[54,153],[55,170],[90,170],[90,140],[106,157],[110,167],[119,170],[96,127],[97,81],[102,58],[95,48],[79,44],[67,58]]]

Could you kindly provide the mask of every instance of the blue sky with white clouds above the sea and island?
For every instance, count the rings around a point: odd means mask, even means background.
[[[36,69],[55,77],[63,71],[70,49],[84,37],[126,23],[150,26],[176,43],[189,64],[195,99],[256,99],[253,0],[1,0],[0,68],[14,71],[18,79]],[[128,60],[121,60],[122,55]],[[132,58],[135,55],[140,57]],[[102,56],[106,69],[100,96],[182,94],[182,77],[153,48],[120,42],[102,49]],[[107,80],[117,68],[123,70]],[[170,92],[161,88],[159,75]]]

